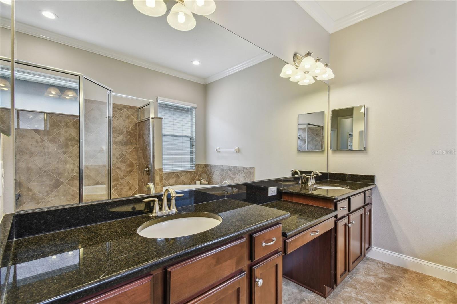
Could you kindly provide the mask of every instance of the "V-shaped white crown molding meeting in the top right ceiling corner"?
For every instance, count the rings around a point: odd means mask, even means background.
[[[380,14],[386,10],[393,9],[411,0],[379,0],[363,9],[356,10],[355,12],[333,20],[329,14],[319,5],[315,0],[295,0],[303,10],[305,10],[311,17],[314,18],[326,31],[330,34],[339,31],[345,27],[351,26],[362,20],[368,19],[372,16]]]

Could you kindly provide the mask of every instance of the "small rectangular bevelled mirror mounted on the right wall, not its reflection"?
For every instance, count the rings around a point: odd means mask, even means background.
[[[330,150],[365,150],[366,112],[365,105],[330,111]]]

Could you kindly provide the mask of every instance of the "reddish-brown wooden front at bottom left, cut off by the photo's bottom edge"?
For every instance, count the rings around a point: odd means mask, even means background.
[[[80,304],[150,304],[152,303],[152,276],[101,294]]]

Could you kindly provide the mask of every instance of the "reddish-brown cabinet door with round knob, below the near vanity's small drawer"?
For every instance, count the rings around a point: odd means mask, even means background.
[[[252,303],[282,304],[282,252],[251,267]]]

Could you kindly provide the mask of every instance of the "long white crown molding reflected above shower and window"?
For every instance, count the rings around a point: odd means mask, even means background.
[[[2,26],[5,26],[5,24],[2,24]],[[52,31],[43,30],[43,29],[40,29],[40,28],[37,28],[37,27],[34,27],[34,26],[30,26],[30,25],[27,25],[25,23],[21,23],[21,22],[17,22],[17,21],[15,22],[14,26],[15,26],[15,30],[16,31],[20,31],[20,32],[28,34],[28,35],[44,38],[44,39],[47,39],[47,40],[50,40],[50,41],[53,41],[53,42],[62,43],[62,44],[68,45],[70,47],[76,47],[76,48],[79,48],[81,50],[85,50],[85,51],[88,51],[88,52],[93,52],[93,53],[96,53],[96,54],[99,54],[99,55],[102,55],[102,56],[106,56],[106,57],[109,57],[109,58],[117,59],[117,60],[120,60],[120,61],[123,61],[123,62],[127,62],[127,63],[131,63],[131,64],[134,64],[134,65],[138,65],[138,66],[143,67],[143,68],[149,68],[151,70],[154,70],[154,71],[157,71],[157,72],[160,72],[160,73],[165,73],[165,74],[168,74],[168,75],[171,75],[171,76],[179,77],[179,78],[182,78],[182,79],[187,79],[187,80],[190,80],[190,81],[193,81],[193,82],[197,82],[199,84],[205,84],[205,80],[203,78],[201,78],[201,77],[193,76],[193,75],[190,75],[190,74],[187,74],[187,73],[182,73],[180,71],[176,71],[176,70],[171,69],[171,68],[166,68],[166,67],[163,67],[163,66],[158,65],[158,64],[144,62],[144,61],[138,60],[137,58],[133,58],[133,57],[130,57],[130,56],[126,55],[126,54],[123,54],[121,52],[113,52],[113,51],[111,51],[109,49],[106,49],[104,47],[98,47],[98,46],[93,45],[91,43],[83,42],[83,41],[78,40],[78,39],[74,39],[74,38],[70,38],[70,37],[67,37],[67,36],[64,36],[64,35],[60,35],[60,34],[52,32]]]

